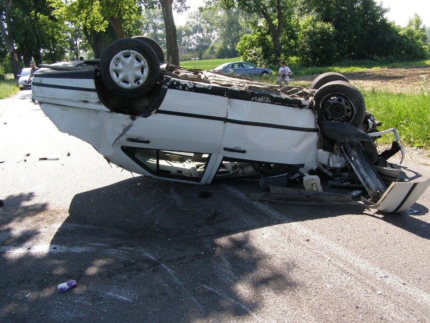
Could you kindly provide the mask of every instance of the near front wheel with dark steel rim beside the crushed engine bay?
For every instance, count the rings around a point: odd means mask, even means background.
[[[364,98],[358,88],[345,81],[321,86],[313,97],[318,115],[323,120],[348,122],[359,127],[366,112]]]

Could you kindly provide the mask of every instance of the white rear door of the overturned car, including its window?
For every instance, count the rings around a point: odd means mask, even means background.
[[[225,97],[169,88],[159,108],[138,117],[113,149],[140,173],[204,183],[220,151],[226,115]]]

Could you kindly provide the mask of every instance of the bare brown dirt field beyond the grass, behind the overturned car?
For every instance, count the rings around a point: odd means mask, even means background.
[[[406,68],[381,68],[362,72],[343,73],[352,84],[366,90],[378,89],[391,92],[410,93],[419,91],[422,75],[426,75],[427,83],[430,79],[430,66],[416,66]],[[294,81],[311,82],[315,75],[297,76]]]

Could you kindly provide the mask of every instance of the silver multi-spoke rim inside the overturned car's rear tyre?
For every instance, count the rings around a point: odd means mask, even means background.
[[[112,58],[109,72],[115,84],[122,88],[133,89],[145,82],[149,67],[142,54],[125,50]]]

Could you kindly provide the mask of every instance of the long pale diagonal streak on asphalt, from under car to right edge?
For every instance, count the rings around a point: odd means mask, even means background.
[[[240,192],[239,190],[231,186],[228,186],[227,184],[225,184],[223,187],[230,194],[237,196],[243,201],[246,201],[246,203],[251,204],[252,206],[254,206],[259,211],[263,212],[264,214],[272,217],[277,221],[282,221],[282,223],[293,228],[300,235],[312,237],[312,239],[315,240],[319,245],[328,248],[331,252],[337,254],[340,258],[345,259],[354,267],[357,267],[360,270],[367,272],[371,276],[374,276],[376,279],[380,278],[381,276],[384,276],[384,277],[388,276],[387,278],[384,279],[384,282],[388,286],[396,289],[399,292],[402,292],[404,294],[411,296],[418,303],[430,305],[430,294],[420,290],[417,287],[414,287],[411,285],[403,285],[402,283],[405,282],[405,280],[402,280],[399,277],[395,276],[394,274],[389,273],[387,270],[383,270],[373,265],[369,261],[361,258],[360,256],[345,249],[344,247],[334,243],[333,241],[316,234],[315,232],[305,227],[304,225],[294,222],[293,219],[283,214],[280,214],[279,212],[272,209],[270,206],[267,206],[261,202],[257,202],[249,199],[246,196],[246,194]]]

